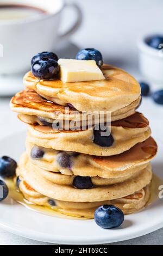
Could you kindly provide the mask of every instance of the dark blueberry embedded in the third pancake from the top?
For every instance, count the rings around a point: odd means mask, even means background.
[[[114,143],[114,138],[112,135],[104,136],[103,133],[109,132],[108,127],[105,127],[105,130],[101,130],[99,126],[96,126],[93,133],[94,133],[94,139],[93,142],[101,147],[111,147]]]

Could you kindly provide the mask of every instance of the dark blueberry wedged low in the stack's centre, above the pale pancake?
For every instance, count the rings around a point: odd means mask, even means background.
[[[73,180],[73,186],[79,188],[79,190],[92,188],[91,177],[76,176]]]

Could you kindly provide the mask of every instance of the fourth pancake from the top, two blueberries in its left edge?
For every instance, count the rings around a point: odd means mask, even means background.
[[[41,148],[44,152],[43,157],[34,159],[31,157],[33,147],[34,144],[27,142],[27,155],[30,162],[39,167],[40,172],[42,175],[46,175],[47,179],[54,179],[54,176],[52,178],[53,172],[64,174],[64,176],[98,176],[109,180],[110,184],[114,184],[115,180],[116,182],[122,182],[145,168],[157,152],[157,145],[154,139],[150,137],[145,142],[138,143],[130,150],[115,156],[97,157],[85,154],[73,156],[73,154],[67,152],[71,167],[66,168],[61,167],[57,161],[59,153],[61,154],[62,151]]]

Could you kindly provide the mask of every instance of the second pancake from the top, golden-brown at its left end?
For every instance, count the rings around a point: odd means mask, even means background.
[[[140,103],[140,99],[141,97],[130,105],[112,112],[111,121],[120,120],[134,114],[136,107]],[[30,89],[17,93],[12,97],[10,107],[12,111],[18,113],[18,118],[21,121],[32,125],[45,125],[46,122],[47,125],[52,126],[53,122],[58,119],[58,122],[61,120],[74,120],[78,122],[77,126],[80,126],[81,120],[87,120],[89,117],[89,114],[82,114],[72,107],[65,108],[64,106],[43,99],[43,97],[38,95],[34,90]],[[106,121],[105,114],[101,113],[101,116],[104,117],[104,120]],[[41,119],[43,119],[43,123],[41,122]],[[98,123],[99,118],[96,120],[94,117],[93,124]]]

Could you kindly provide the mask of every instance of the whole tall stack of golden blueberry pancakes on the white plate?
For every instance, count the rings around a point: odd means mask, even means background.
[[[140,86],[113,66],[103,65],[102,72],[105,80],[75,83],[39,81],[32,72],[24,76],[26,89],[12,98],[11,109],[28,124],[26,153],[16,174],[30,203],[87,218],[103,204],[116,205],[124,214],[146,206],[157,145],[148,120],[136,112]],[[109,146],[95,139],[99,119],[87,126],[95,111],[104,119],[111,114]],[[83,113],[85,130],[80,127]],[[62,119],[62,129],[55,129],[53,123]],[[78,129],[67,129],[71,121]]]

